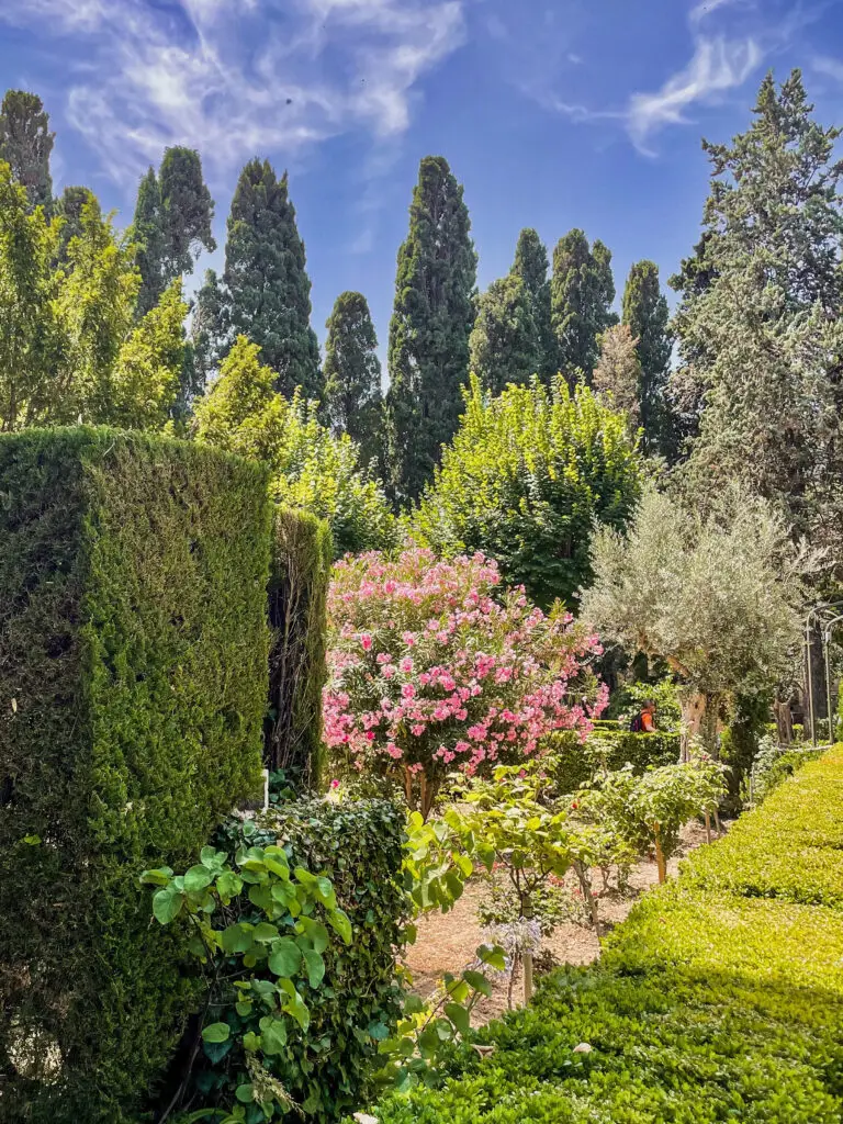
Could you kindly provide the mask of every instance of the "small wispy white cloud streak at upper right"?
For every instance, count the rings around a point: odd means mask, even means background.
[[[743,85],[763,58],[752,39],[699,38],[694,56],[654,93],[634,93],[625,119],[635,146],[649,152],[650,138],[667,125],[686,125],[689,106]]]

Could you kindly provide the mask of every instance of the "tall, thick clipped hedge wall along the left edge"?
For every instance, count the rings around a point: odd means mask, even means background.
[[[0,1120],[123,1124],[189,982],[137,876],[260,786],[265,477],[105,429],[0,438]]]

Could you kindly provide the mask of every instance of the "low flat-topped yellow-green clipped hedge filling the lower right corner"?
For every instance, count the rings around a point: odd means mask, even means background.
[[[647,894],[599,966],[488,1027],[489,1058],[465,1049],[444,1088],[388,1098],[379,1124],[839,1124],[841,843],[836,749]]]

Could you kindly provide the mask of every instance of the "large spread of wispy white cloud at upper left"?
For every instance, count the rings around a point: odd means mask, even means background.
[[[165,145],[200,148],[221,175],[350,129],[399,136],[419,80],[463,42],[462,4],[2,0],[0,21],[70,37],[67,118],[129,183]]]

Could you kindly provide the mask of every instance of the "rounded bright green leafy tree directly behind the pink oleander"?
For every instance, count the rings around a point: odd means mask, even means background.
[[[592,524],[623,527],[640,489],[626,420],[590,390],[556,378],[490,398],[474,378],[414,527],[445,554],[483,551],[540,605],[570,602],[591,580]]]

